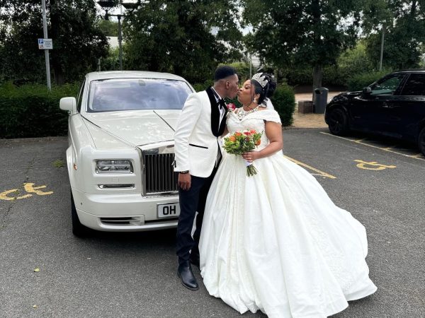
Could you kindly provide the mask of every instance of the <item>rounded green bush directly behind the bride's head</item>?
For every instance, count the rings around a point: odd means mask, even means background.
[[[295,93],[293,88],[285,84],[279,84],[271,97],[271,102],[273,102],[273,106],[280,116],[282,126],[293,124],[295,111]]]

